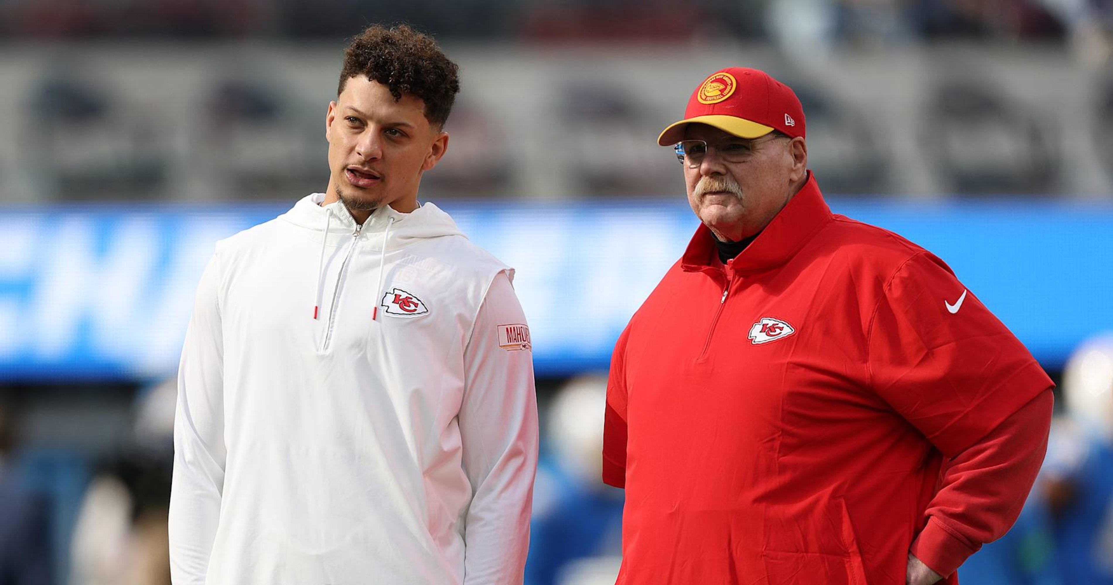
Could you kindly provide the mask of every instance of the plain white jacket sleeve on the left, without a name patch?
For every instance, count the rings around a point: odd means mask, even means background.
[[[204,585],[224,488],[224,340],[214,256],[201,275],[178,367],[170,488],[170,577]]]

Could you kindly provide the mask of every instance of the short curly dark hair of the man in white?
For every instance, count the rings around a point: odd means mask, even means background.
[[[412,93],[425,102],[425,119],[444,127],[452,102],[460,92],[460,67],[449,60],[427,34],[400,24],[374,24],[352,39],[344,51],[344,67],[336,89],[339,96],[348,78],[367,76],[391,90],[394,101]]]

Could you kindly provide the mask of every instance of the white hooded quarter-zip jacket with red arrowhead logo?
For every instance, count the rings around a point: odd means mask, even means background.
[[[513,271],[308,196],[217,245],[178,375],[175,585],[514,584],[538,420]]]

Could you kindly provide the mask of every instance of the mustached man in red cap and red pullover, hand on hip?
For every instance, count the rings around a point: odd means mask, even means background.
[[[955,583],[1040,469],[1051,379],[943,260],[831,214],[805,123],[735,67],[658,139],[702,225],[611,359],[619,584]]]

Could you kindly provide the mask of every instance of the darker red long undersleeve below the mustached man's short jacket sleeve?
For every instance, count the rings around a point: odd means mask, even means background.
[[[1052,403],[1048,388],[948,464],[913,556],[947,576],[1008,532],[1047,452]]]

